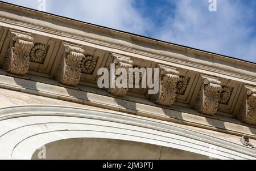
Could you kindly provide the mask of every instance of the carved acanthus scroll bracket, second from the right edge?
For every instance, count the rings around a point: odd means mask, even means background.
[[[203,76],[203,84],[194,105],[195,110],[203,114],[215,114],[221,92],[221,82],[217,78]]]

